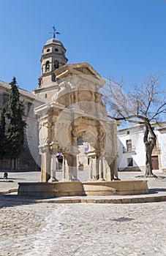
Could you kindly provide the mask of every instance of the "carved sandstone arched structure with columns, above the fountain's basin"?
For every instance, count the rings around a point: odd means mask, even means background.
[[[42,181],[56,181],[57,152],[63,155],[63,181],[78,181],[80,139],[88,142],[90,178],[110,181],[117,173],[118,123],[108,120],[102,104],[99,89],[105,80],[89,64],[69,64],[57,71],[59,83],[52,102],[35,110],[41,117]]]

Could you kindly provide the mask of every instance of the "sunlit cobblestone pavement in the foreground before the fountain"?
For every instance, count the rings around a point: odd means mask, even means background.
[[[1,256],[164,256],[166,204],[1,203]]]

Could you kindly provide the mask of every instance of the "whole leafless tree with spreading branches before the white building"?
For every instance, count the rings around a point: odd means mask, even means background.
[[[156,146],[152,124],[160,121],[166,113],[166,94],[159,87],[160,80],[161,75],[150,75],[140,86],[135,84],[126,92],[123,90],[123,83],[108,80],[102,90],[103,101],[110,118],[143,124],[146,177],[156,177],[152,172],[151,162],[151,154]]]

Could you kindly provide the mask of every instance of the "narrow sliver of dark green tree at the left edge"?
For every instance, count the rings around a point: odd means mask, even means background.
[[[6,141],[7,138],[5,134],[5,129],[6,129],[5,113],[6,113],[6,110],[3,107],[0,115],[0,159],[5,158],[6,146],[7,146],[7,141]]]

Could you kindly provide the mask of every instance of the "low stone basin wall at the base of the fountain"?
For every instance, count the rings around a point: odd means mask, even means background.
[[[143,195],[147,193],[147,181],[21,182],[18,187],[18,195],[26,197]]]

